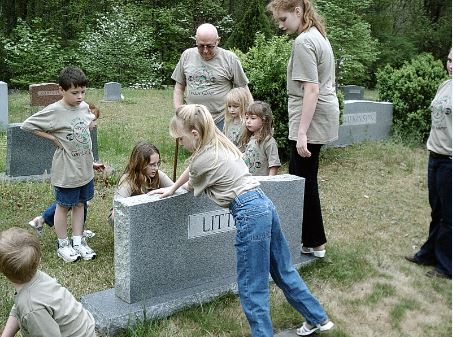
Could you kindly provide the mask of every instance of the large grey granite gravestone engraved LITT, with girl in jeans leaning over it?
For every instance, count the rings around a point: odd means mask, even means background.
[[[257,178],[280,215],[293,263],[312,260],[300,254],[304,179]],[[115,212],[115,288],[82,298],[101,332],[237,291],[236,232],[228,209],[179,190],[165,199],[115,201]]]

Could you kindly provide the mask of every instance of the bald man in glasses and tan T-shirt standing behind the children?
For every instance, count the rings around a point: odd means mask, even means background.
[[[195,40],[196,46],[182,53],[171,75],[176,81],[173,105],[176,109],[184,104],[185,93],[186,102],[205,105],[222,130],[226,95],[235,87],[249,90],[248,79],[239,58],[219,47],[220,37],[213,25],[199,26]]]

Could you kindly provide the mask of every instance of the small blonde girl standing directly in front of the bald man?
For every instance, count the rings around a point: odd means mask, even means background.
[[[245,112],[253,99],[246,88],[231,89],[225,99],[225,124],[223,133],[234,145],[238,145],[239,137],[245,122]]]

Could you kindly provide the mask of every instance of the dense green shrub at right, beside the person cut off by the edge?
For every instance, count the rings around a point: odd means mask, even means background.
[[[431,54],[420,54],[399,69],[387,65],[377,73],[379,99],[393,103],[393,133],[422,142],[431,127],[429,105],[446,71]]]

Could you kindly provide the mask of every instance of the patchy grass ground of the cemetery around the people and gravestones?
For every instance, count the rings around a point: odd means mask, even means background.
[[[46,227],[41,237],[41,269],[78,299],[114,287],[113,230],[107,215],[115,183],[134,143],[147,139],[156,144],[161,151],[161,169],[172,175],[175,141],[168,135],[173,114],[171,90],[123,89],[123,94],[121,103],[102,102],[102,90],[89,89],[86,96],[101,109],[100,161],[114,169],[110,176],[96,176],[95,197],[88,211],[86,227],[96,233],[89,241],[97,259],[66,264],[56,256],[53,231]],[[26,92],[10,93],[10,123],[28,117],[28,102]],[[0,133],[0,158],[0,172],[4,172],[6,133]],[[178,175],[185,158],[187,154],[180,150]],[[406,146],[390,140],[323,150],[319,183],[329,240],[327,254],[301,268],[300,273],[336,323],[336,328],[324,336],[451,336],[451,281],[431,279],[425,276],[427,267],[403,258],[415,253],[427,237],[430,208],[426,165],[423,144]],[[0,195],[0,230],[11,226],[29,229],[28,221],[53,201],[48,181],[2,180]],[[12,286],[0,276],[1,326],[13,293]],[[277,331],[302,323],[274,285],[271,308]],[[238,297],[230,294],[131,327],[121,336],[249,335]]]

